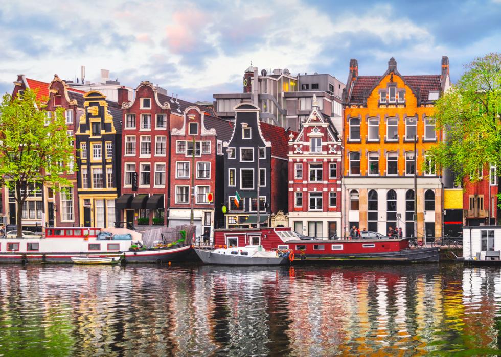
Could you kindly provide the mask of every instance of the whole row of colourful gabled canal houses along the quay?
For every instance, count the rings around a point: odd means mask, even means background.
[[[245,79],[244,91],[252,90],[252,78]],[[26,226],[147,228],[193,220],[197,235],[211,236],[214,228],[256,227],[259,220],[316,237],[346,235],[353,225],[440,236],[485,211],[472,184],[463,194],[426,157],[443,139],[434,103],[450,87],[447,57],[440,74],[416,76],[401,75],[393,58],[381,76],[360,76],[352,59],[343,117],[326,114],[311,92],[298,131],[260,121],[260,108],[245,101],[233,120],[223,120],[147,81],[133,95],[119,87],[117,101],[57,75],[51,83],[19,75],[14,84],[14,95],[37,91],[48,121],[64,108],[75,147],[75,170],[66,173],[73,187],[33,189],[22,213]],[[13,224],[12,193],[4,188],[2,197]]]

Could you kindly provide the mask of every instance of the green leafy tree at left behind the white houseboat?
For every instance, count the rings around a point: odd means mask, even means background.
[[[28,188],[50,185],[60,191],[70,181],[62,174],[73,169],[71,138],[66,134],[63,109],[47,118],[36,93],[5,94],[0,103],[0,184],[15,191],[17,236],[22,236],[22,206]]]

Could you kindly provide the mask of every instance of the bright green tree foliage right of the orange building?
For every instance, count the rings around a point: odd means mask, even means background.
[[[432,162],[451,169],[457,183],[488,178],[477,174],[486,165],[501,168],[501,54],[478,57],[466,65],[435,110],[437,128],[445,139],[428,151]]]

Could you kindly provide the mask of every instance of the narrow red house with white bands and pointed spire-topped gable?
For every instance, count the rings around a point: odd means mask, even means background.
[[[289,226],[318,239],[341,234],[341,142],[318,108],[289,141]]]

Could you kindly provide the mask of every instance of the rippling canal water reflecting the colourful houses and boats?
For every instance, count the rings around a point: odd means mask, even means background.
[[[501,354],[501,268],[1,265],[0,355]]]

